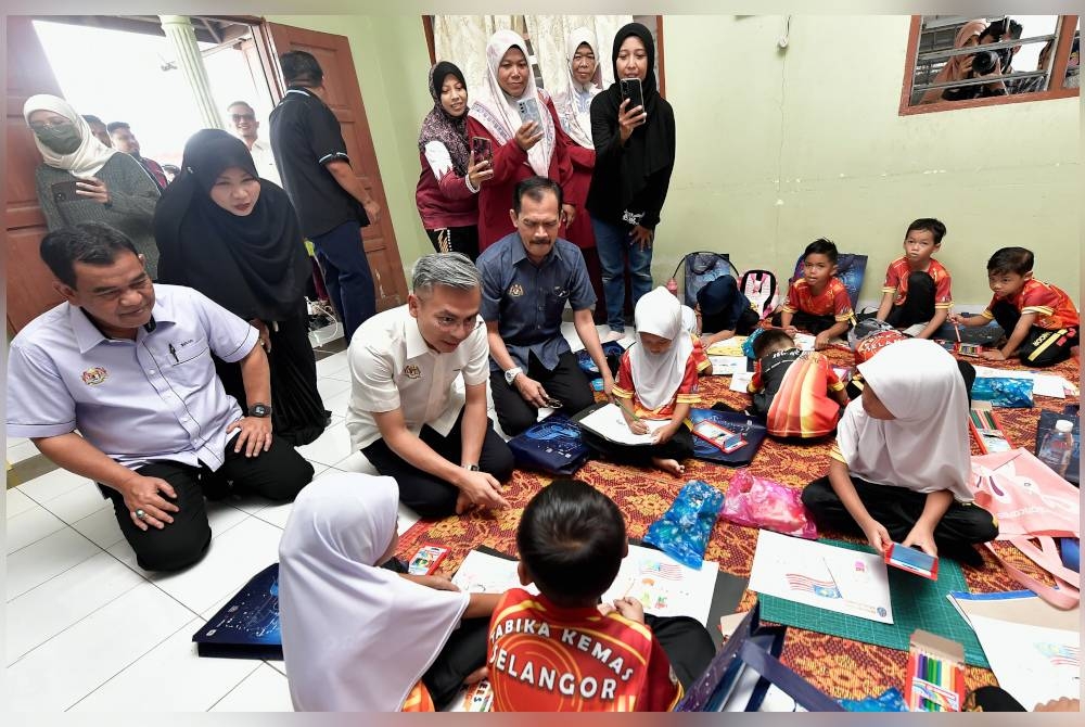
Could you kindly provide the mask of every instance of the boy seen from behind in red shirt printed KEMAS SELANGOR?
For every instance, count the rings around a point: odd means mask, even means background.
[[[494,610],[495,711],[666,711],[707,668],[712,638],[693,618],[646,616],[634,598],[599,603],[629,551],[602,493],[556,480],[524,508],[516,547],[520,583],[540,595],[512,588]]]

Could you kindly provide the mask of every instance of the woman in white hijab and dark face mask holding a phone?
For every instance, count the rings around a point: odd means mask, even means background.
[[[44,162],[34,176],[49,229],[86,221],[115,227],[131,239],[148,275],[156,278],[152,221],[158,188],[139,162],[95,139],[64,99],[33,95],[23,117]]]

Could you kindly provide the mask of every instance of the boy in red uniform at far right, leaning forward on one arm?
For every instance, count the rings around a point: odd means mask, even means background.
[[[987,260],[987,284],[995,293],[979,316],[953,317],[959,326],[986,326],[992,319],[1006,331],[1001,348],[983,352],[993,361],[1020,356],[1027,366],[1054,366],[1071,355],[1081,340],[1081,318],[1062,290],[1032,277],[1032,251],[1003,247]]]

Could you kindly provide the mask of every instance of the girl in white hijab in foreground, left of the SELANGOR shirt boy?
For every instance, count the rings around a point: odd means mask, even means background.
[[[398,498],[392,477],[339,473],[294,501],[279,544],[279,614],[297,711],[432,711],[485,674],[498,595],[381,567],[399,541]]]

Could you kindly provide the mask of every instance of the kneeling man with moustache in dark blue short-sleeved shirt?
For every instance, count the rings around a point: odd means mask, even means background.
[[[535,423],[541,407],[559,405],[574,414],[595,403],[587,375],[561,333],[565,304],[573,326],[603,378],[610,396],[610,367],[591,320],[596,294],[584,256],[558,238],[561,186],[529,177],[516,186],[509,211],[516,231],[478,256],[483,320],[489,336],[490,390],[501,430],[515,436]]]

